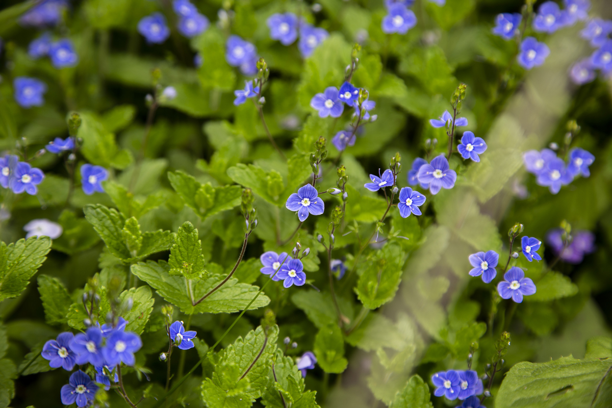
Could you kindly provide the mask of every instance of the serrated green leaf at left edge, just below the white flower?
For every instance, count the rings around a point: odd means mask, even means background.
[[[0,242],[0,301],[16,297],[45,261],[51,248],[49,237],[31,237],[11,243]]]

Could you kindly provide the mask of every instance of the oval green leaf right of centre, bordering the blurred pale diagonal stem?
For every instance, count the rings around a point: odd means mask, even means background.
[[[358,266],[360,273],[355,292],[370,310],[392,300],[400,285],[405,254],[397,243],[389,243],[371,253],[367,261]]]

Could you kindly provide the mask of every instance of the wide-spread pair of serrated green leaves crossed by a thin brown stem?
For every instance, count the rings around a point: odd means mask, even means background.
[[[244,310],[259,290],[257,286],[238,283],[234,278],[228,280],[221,289],[207,297],[198,305],[192,305],[192,299],[199,300],[213,287],[217,286],[225,276],[212,274],[206,281],[193,281],[190,298],[187,282],[181,276],[170,276],[170,265],[165,261],[138,262],[132,265],[132,273],[153,287],[166,302],[178,306],[183,313],[233,313]],[[261,294],[253,302],[250,309],[257,309],[270,303],[270,299]]]

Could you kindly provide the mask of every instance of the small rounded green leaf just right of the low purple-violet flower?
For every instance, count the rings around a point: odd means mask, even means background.
[[[340,374],[345,371],[348,360],[344,357],[344,339],[337,324],[319,330],[314,351],[318,365],[326,373]]]

